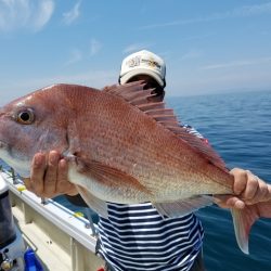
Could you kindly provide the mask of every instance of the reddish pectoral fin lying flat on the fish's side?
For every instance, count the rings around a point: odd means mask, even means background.
[[[89,175],[93,180],[104,186],[119,190],[122,194],[138,191],[151,195],[151,191],[141,184],[137,178],[117,168],[109,167],[96,160],[85,160],[81,157],[78,157],[77,160],[80,163],[80,173]]]

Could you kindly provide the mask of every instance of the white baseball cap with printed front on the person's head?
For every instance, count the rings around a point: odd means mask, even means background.
[[[124,59],[119,82],[126,83],[137,75],[149,75],[162,87],[166,86],[166,64],[162,57],[150,51],[142,50]]]

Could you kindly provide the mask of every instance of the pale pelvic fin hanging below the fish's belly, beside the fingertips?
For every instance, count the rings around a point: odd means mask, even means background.
[[[86,190],[85,188],[80,185],[76,185],[76,188],[79,194],[81,195],[82,199],[91,209],[93,209],[101,217],[108,218],[106,202],[95,197],[88,190]]]

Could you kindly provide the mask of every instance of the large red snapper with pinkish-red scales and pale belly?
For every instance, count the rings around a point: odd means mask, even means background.
[[[147,103],[150,95],[142,82],[35,91],[1,108],[0,157],[29,177],[37,152],[57,150],[68,160],[69,180],[104,217],[106,202],[152,202],[175,217],[211,204],[214,194],[232,194],[233,177],[215,151],[180,127],[164,103]],[[258,212],[247,207],[232,215],[237,243],[248,253]]]

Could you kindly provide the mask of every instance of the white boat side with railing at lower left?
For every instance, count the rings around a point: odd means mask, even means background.
[[[9,185],[15,222],[44,270],[89,271],[103,264],[95,256],[95,224],[53,199],[41,201],[8,172],[0,178]]]

